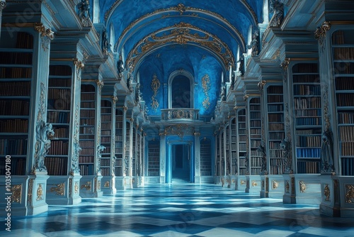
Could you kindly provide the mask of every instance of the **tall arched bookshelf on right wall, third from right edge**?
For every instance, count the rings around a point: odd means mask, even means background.
[[[282,175],[284,159],[280,143],[285,139],[284,98],[282,85],[267,87],[269,174]]]

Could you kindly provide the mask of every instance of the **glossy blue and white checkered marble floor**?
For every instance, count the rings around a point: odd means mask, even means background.
[[[4,219],[2,219],[4,220]],[[354,221],[318,205],[282,204],[214,184],[151,184],[13,217],[0,236],[354,236]]]

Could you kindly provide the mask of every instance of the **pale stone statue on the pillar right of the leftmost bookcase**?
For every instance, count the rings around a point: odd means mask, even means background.
[[[44,161],[50,148],[50,137],[54,136],[54,131],[51,123],[45,121],[39,121],[36,128],[36,143],[35,143],[35,170],[43,171],[47,170]]]

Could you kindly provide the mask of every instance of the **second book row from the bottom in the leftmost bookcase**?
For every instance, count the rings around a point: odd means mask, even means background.
[[[0,155],[27,155],[27,139],[0,139]]]

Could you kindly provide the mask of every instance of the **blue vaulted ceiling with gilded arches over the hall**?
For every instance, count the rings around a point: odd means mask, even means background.
[[[216,104],[221,75],[235,67],[238,48],[246,51],[249,28],[263,22],[263,1],[91,0],[91,8],[99,8],[108,31],[114,28],[110,44],[133,75],[139,73],[145,100],[154,73],[166,82],[171,72],[183,69],[193,75],[195,93],[202,76],[210,76],[210,99]],[[202,112],[212,114],[212,109]]]

